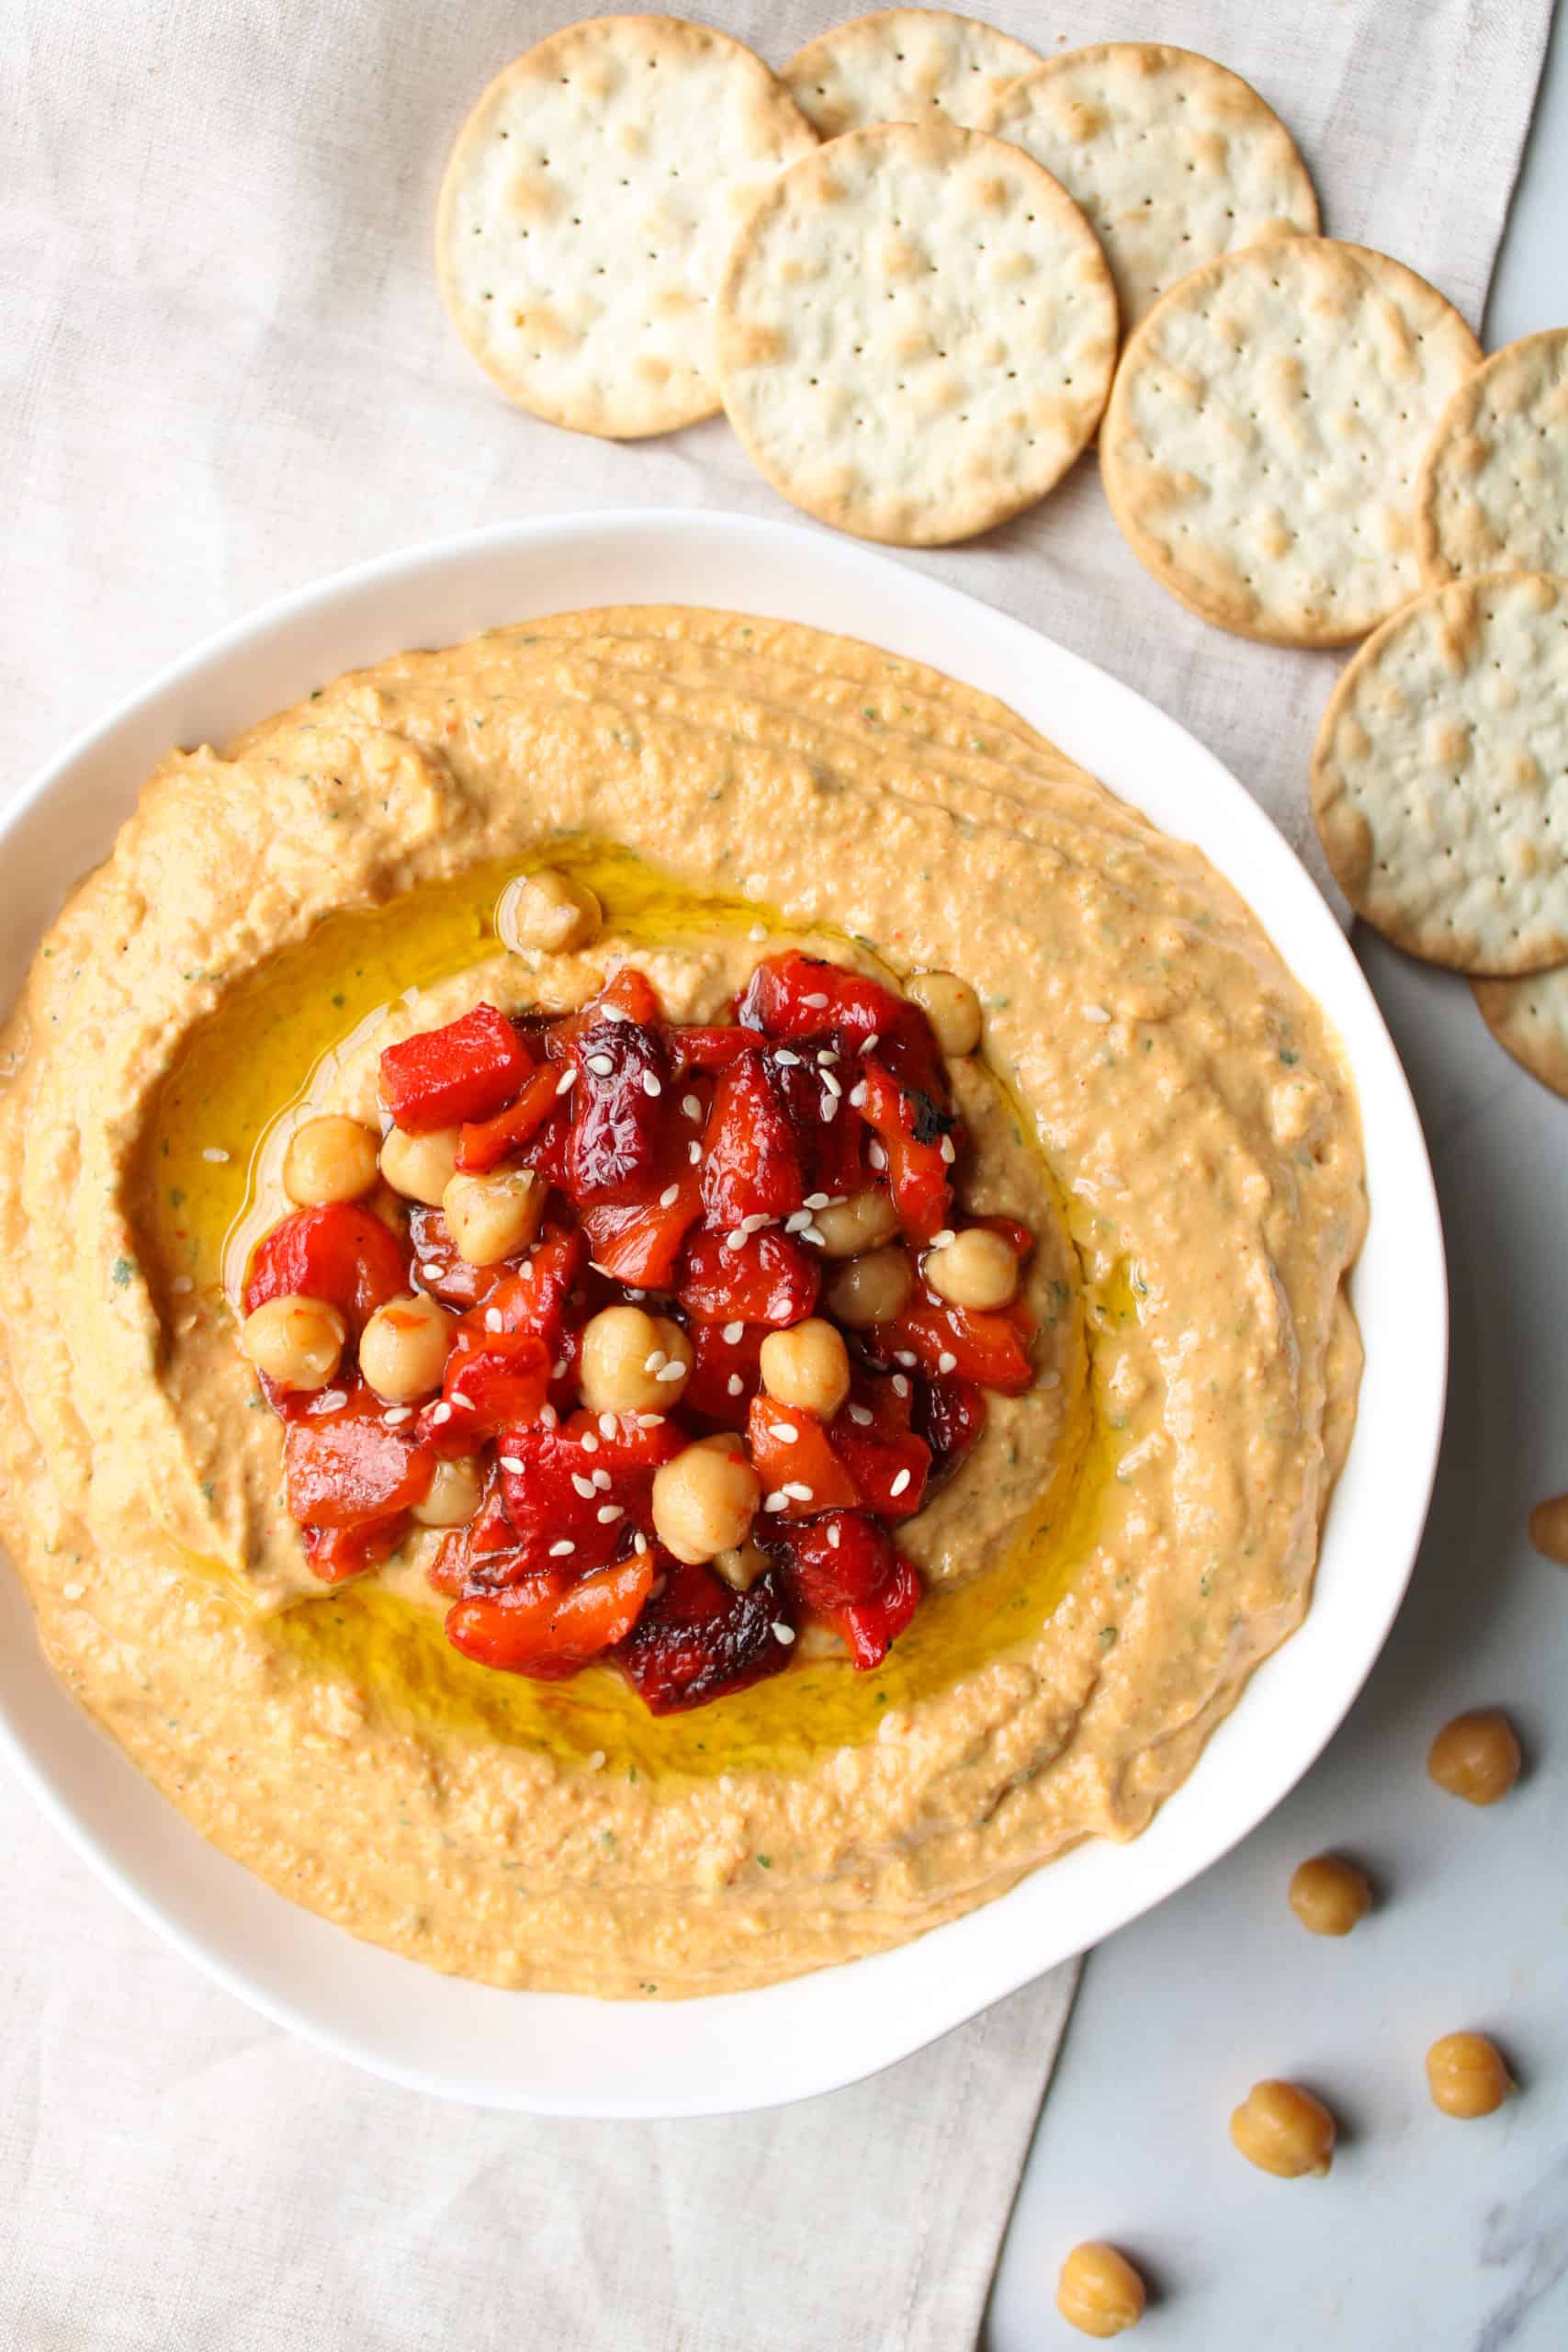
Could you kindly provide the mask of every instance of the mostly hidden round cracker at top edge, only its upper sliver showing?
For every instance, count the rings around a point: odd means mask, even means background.
[[[983,129],[1006,85],[1039,64],[994,24],[940,7],[884,7],[818,33],[783,82],[823,139],[865,122],[957,122]]]

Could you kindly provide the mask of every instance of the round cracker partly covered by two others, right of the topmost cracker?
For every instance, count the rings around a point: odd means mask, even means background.
[[[980,129],[1027,148],[1081,205],[1128,332],[1199,263],[1319,230],[1291,132],[1251,82],[1197,49],[1065,49],[1004,89]]]

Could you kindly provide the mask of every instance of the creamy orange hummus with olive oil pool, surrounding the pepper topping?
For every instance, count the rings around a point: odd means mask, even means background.
[[[604,929],[512,950],[508,884]],[[442,1639],[435,1536],[322,1588],[237,1348],[287,1136],[376,1054],[635,962],[715,1021],[780,946],[964,976],[961,1204],[1034,1232],[1034,1381],[900,1526],[875,1672],[802,1639],[654,1717]],[[1300,1623],[1366,1202],[1316,1004],[1220,875],[999,703],[696,609],[567,614],[174,753],[0,1040],[0,1534],[49,1663],[226,1853],[498,1985],[698,1994],[1133,1837]]]

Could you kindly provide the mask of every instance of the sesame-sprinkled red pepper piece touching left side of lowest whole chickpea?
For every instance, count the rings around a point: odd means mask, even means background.
[[[505,1430],[501,1491],[522,1566],[581,1576],[623,1552],[632,1529],[649,1536],[654,1472],[684,1446],[672,1421],[642,1428],[637,1414],[574,1414],[559,1430]],[[562,1543],[571,1550],[559,1552]]]

